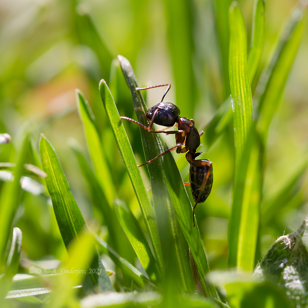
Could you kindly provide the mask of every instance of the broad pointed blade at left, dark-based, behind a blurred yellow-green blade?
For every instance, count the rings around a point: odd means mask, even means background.
[[[55,150],[43,134],[41,135],[39,150],[43,170],[47,173],[47,177],[45,178],[47,190],[51,197],[63,242],[66,248],[68,248],[71,241],[77,238],[78,234],[84,228],[85,221],[70,191],[70,186]],[[103,268],[103,264],[98,255],[93,259],[93,265]],[[103,276],[99,277],[90,274],[90,277],[94,284],[98,284],[101,288],[105,287]],[[110,280],[108,288],[108,290],[113,289]]]

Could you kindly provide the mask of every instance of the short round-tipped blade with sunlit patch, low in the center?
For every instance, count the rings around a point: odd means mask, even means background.
[[[149,278],[153,282],[159,281],[159,269],[137,219],[120,201],[115,202],[115,213]]]

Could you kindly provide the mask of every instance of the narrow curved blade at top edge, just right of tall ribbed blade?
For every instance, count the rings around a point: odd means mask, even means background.
[[[253,6],[253,23],[251,29],[251,43],[248,57],[248,71],[250,83],[256,75],[260,63],[265,38],[265,3],[255,0]]]

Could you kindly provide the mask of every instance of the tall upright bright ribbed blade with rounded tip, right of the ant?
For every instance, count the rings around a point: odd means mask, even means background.
[[[229,76],[232,95],[236,162],[241,159],[252,123],[252,96],[247,69],[247,35],[243,15],[233,1],[229,11]]]

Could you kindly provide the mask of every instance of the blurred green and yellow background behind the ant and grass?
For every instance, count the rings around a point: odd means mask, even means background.
[[[180,2],[180,4],[179,4]],[[1,0],[0,1],[0,130],[12,144],[0,145],[0,161],[14,160],[14,149],[25,129],[31,128],[38,148],[43,132],[59,156],[71,191],[88,222],[102,225],[104,218],[93,205],[71,144],[87,155],[82,123],[76,109],[79,88],[95,111],[102,109],[100,79],[108,83],[112,59],[124,55],[134,67],[140,86],[171,83],[165,101],[180,107],[181,115],[194,118],[199,131],[206,129],[217,108],[230,95],[228,80],[228,11],[217,16],[217,5],[228,0]],[[265,46],[257,77],[275,46],[295,0],[267,0]],[[251,36],[253,1],[239,1]],[[93,27],[94,25],[94,27]],[[307,160],[308,146],[308,28],[304,30],[282,102],[275,113],[267,142],[263,203]],[[122,77],[118,77],[121,79]],[[123,79],[123,78],[122,78]],[[115,97],[120,115],[133,117],[132,99],[124,80]],[[254,91],[257,79],[252,82]],[[111,89],[112,90],[112,89]],[[164,89],[147,91],[148,107],[160,102]],[[145,93],[144,93],[145,94]],[[117,188],[143,225],[138,202],[105,118],[98,119],[104,152]],[[144,162],[139,128],[125,123],[138,163]],[[163,137],[164,138],[164,137]],[[168,146],[174,139],[164,138]],[[232,202],[234,169],[232,124],[208,147],[202,157],[213,161],[214,186],[196,216],[211,269],[227,267],[227,227]],[[174,155],[184,180],[189,165]],[[150,187],[146,167],[141,170]],[[260,225],[261,252],[283,232],[297,229],[307,216],[308,179],[301,173],[281,206]],[[149,192],[150,193],[150,192]],[[191,196],[188,188],[188,193]],[[264,218],[264,217],[263,217]],[[23,233],[22,257],[58,259],[65,247],[46,193],[24,193],[15,218]],[[305,237],[304,237],[305,239]],[[105,260],[108,262],[108,260]],[[109,268],[112,264],[109,263]],[[140,266],[139,266],[140,267]]]

